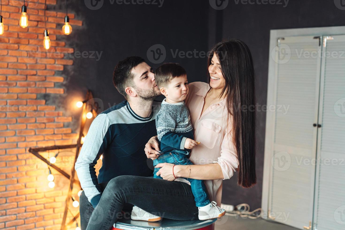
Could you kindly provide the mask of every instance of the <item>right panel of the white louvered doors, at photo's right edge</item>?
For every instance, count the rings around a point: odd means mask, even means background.
[[[328,37],[328,39],[327,39]],[[323,36],[314,229],[345,229],[345,36]]]

